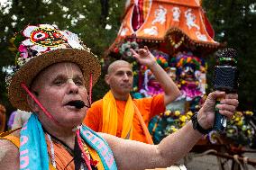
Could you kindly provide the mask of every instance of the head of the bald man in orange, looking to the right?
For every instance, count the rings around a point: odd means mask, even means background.
[[[105,82],[114,94],[127,95],[133,88],[133,70],[129,63],[115,63],[105,76]]]

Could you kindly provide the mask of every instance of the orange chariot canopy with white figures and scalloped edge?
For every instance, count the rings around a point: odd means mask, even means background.
[[[214,30],[198,0],[128,0],[123,22],[107,53],[125,40],[166,42],[172,49],[215,51]]]

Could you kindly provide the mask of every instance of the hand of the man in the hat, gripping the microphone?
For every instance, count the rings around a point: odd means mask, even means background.
[[[198,112],[198,122],[205,130],[212,128],[215,121],[215,101],[222,98],[216,105],[219,112],[228,119],[233,117],[236,107],[238,106],[237,94],[225,94],[224,92],[215,91],[207,96],[206,103]]]

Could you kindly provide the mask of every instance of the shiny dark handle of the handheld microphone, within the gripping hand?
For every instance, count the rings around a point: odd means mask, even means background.
[[[216,105],[220,103],[220,100],[216,101]],[[219,112],[219,109],[215,107],[215,124],[213,130],[223,131],[226,127],[226,117]]]

